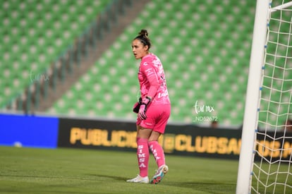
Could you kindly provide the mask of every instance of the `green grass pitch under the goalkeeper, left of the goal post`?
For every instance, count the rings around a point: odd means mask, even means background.
[[[135,152],[0,147],[0,193],[235,193],[237,160],[166,154],[157,185],[127,183],[138,174]],[[152,155],[150,178],[157,169]]]

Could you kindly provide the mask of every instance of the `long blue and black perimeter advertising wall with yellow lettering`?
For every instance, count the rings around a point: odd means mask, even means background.
[[[136,150],[135,122],[0,114],[0,145],[23,147],[78,147],[99,150]],[[238,159],[241,130],[195,125],[166,127],[159,143],[167,154]],[[272,133],[274,134],[274,133]],[[283,133],[278,133],[279,137]],[[278,135],[277,135],[278,136]],[[259,137],[260,138],[260,137]],[[277,137],[275,137],[277,138]],[[257,152],[271,160],[291,157],[291,139],[262,139]],[[279,150],[281,148],[283,151]]]

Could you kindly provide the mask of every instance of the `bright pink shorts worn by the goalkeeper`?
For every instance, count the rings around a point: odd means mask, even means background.
[[[137,118],[136,124],[142,128],[164,133],[170,114],[171,104],[150,104],[146,111],[147,119]]]

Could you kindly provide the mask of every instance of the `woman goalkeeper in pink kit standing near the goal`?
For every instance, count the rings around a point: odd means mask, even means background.
[[[157,56],[150,53],[150,47],[147,30],[141,30],[132,42],[135,59],[141,59],[138,71],[141,97],[133,109],[138,114],[137,157],[140,173],[127,182],[157,184],[169,170],[165,164],[164,150],[157,140],[165,131],[171,113],[171,102],[162,63]],[[151,181],[148,178],[149,150],[158,166]]]

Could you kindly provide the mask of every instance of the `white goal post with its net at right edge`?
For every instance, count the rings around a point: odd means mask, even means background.
[[[264,44],[253,45],[250,59],[252,68],[257,66],[252,58],[260,58],[258,74],[249,73],[248,87],[252,85],[250,76],[258,76],[253,78],[257,80],[253,83],[257,94],[247,94],[246,103],[254,106],[245,104],[245,114],[255,119],[244,119],[236,193],[292,193],[292,1],[264,3],[269,5],[257,2],[253,35],[253,44],[257,38]],[[258,6],[267,11],[258,13]],[[262,37],[257,33],[260,28],[256,30],[262,25],[259,22],[266,25]],[[248,88],[248,93],[252,91]],[[251,109],[255,114],[249,112]],[[253,145],[251,150],[245,148],[248,143]]]

